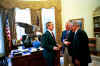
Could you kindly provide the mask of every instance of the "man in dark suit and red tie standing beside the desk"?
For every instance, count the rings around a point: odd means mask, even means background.
[[[59,45],[56,44],[56,40],[53,34],[53,23],[48,22],[46,24],[47,31],[41,38],[41,45],[44,48],[43,55],[47,61],[48,66],[54,66],[54,60],[56,57],[56,50],[59,50]]]

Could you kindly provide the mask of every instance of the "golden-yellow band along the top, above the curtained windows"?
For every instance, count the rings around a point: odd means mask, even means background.
[[[0,0],[0,6],[3,8],[33,8],[55,6],[57,0]],[[5,5],[6,4],[6,5]],[[42,5],[42,6],[41,6]]]

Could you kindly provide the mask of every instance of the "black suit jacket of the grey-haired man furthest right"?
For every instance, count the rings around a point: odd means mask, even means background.
[[[89,41],[88,41],[87,34],[83,30],[79,29],[74,35],[74,39],[71,45],[73,60],[75,58],[77,58],[78,60],[80,59],[86,60],[84,61],[84,63],[85,62],[88,63],[91,61],[88,43]],[[87,59],[88,59],[88,62],[87,62]]]

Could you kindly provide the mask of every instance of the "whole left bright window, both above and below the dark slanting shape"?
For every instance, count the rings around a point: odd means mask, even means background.
[[[17,40],[20,40],[22,38],[22,35],[25,35],[25,27],[19,26],[20,24],[29,24],[31,25],[31,11],[29,8],[26,9],[15,9],[15,22],[16,22],[16,34],[17,34]]]

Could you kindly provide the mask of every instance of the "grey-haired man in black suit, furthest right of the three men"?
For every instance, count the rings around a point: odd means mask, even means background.
[[[80,66],[83,64],[88,65],[88,63],[91,61],[89,47],[88,47],[88,42],[89,42],[88,36],[83,30],[80,29],[80,25],[78,24],[78,22],[73,22],[73,31],[75,32],[71,45],[73,63],[75,66]],[[81,62],[81,60],[85,61]]]

